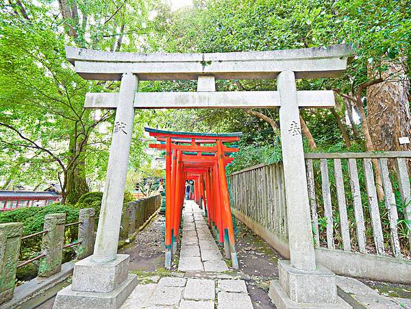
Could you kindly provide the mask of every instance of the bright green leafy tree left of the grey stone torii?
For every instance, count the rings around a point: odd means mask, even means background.
[[[88,82],[66,61],[64,45],[142,49],[151,1],[8,1],[0,10],[0,180],[38,186],[60,182],[63,203],[105,175],[113,113],[84,110],[86,92],[119,83]],[[56,8],[59,8],[58,10]],[[141,37],[140,37],[141,36]],[[138,116],[144,121],[144,113]],[[109,121],[106,123],[105,121]],[[133,164],[144,145],[136,125]]]

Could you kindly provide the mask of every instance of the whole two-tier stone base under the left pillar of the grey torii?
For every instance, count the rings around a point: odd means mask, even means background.
[[[138,284],[128,273],[129,256],[117,254],[116,260],[97,263],[92,256],[75,263],[73,283],[55,297],[55,309],[116,309]]]

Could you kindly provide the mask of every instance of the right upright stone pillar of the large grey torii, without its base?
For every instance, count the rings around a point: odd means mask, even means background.
[[[314,244],[312,243],[306,164],[299,121],[297,87],[293,72],[279,73],[277,77],[277,90],[281,101],[279,125],[281,128],[284,182],[286,186],[290,260],[293,267],[304,271],[312,271],[316,267]]]

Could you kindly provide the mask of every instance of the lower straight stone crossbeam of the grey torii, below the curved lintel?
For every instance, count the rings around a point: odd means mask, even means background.
[[[299,107],[332,108],[332,90],[297,91]],[[114,109],[119,102],[116,92],[89,92],[84,108]],[[232,92],[136,92],[134,108],[273,108],[279,107],[277,91]]]

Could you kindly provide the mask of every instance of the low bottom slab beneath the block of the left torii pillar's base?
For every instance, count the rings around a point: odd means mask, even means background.
[[[137,275],[129,274],[114,291],[81,292],[66,286],[55,297],[53,309],[117,309],[137,286]]]

